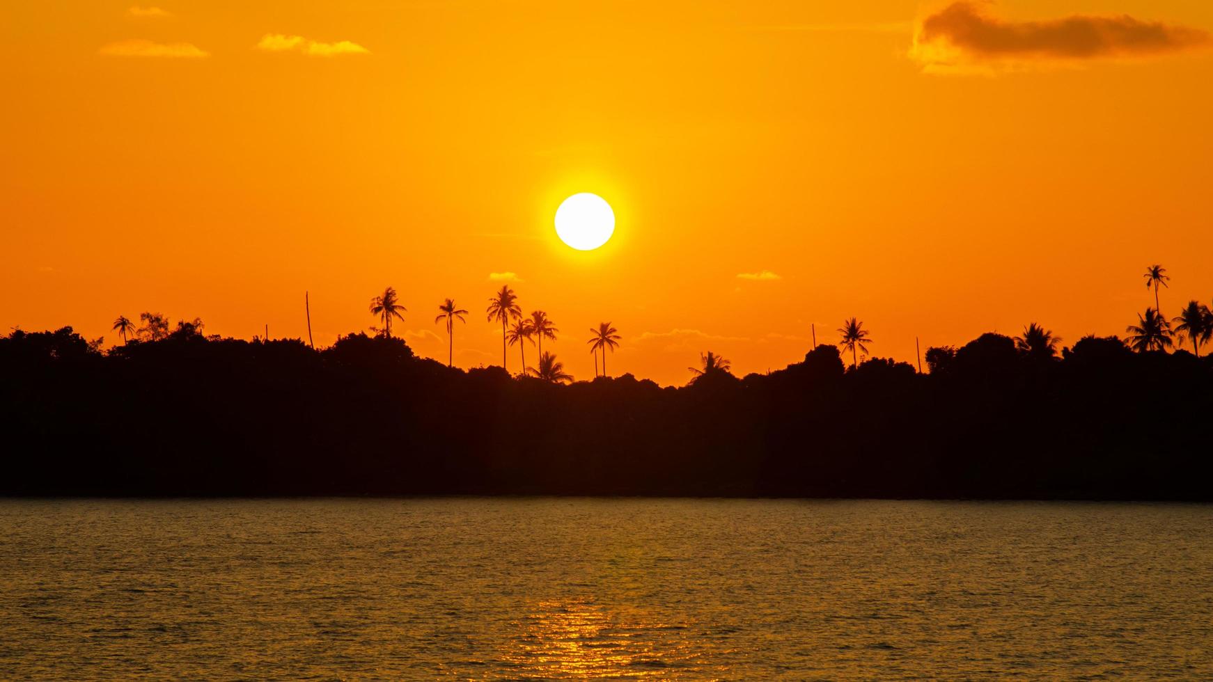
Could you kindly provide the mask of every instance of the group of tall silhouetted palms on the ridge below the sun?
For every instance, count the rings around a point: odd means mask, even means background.
[[[399,296],[393,287],[386,287],[383,293],[371,298],[370,311],[380,319],[380,327],[376,328],[382,336],[391,338],[392,322],[404,321],[404,313],[408,311],[400,304]],[[434,323],[443,323],[446,327],[448,350],[446,365],[454,365],[455,360],[455,322],[467,322],[463,316],[468,311],[459,308],[455,299],[448,298],[438,305],[438,316]],[[523,376],[531,376],[545,382],[564,383],[571,382],[573,376],[564,371],[564,363],[556,359],[552,353],[543,351],[543,339],[556,340],[556,334],[560,329],[556,327],[547,313],[533,310],[530,315],[524,315],[518,305],[518,294],[507,285],[502,285],[501,291],[489,297],[489,306],[485,309],[489,322],[501,323],[501,366],[508,371],[509,346],[517,345],[519,359],[522,360]],[[115,327],[116,328],[116,327]],[[606,351],[611,353],[619,348],[622,337],[619,329],[610,322],[602,322],[597,329],[590,329],[593,334],[588,342],[590,353],[594,356],[594,376],[598,376],[598,356],[602,355],[602,376],[606,376]],[[539,362],[535,367],[526,365],[526,344],[539,346]]]

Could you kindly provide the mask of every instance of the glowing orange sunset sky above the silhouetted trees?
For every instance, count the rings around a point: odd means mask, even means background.
[[[849,5],[6,2],[0,328],[306,337],[311,291],[329,344],[392,285],[422,355],[444,297],[473,313],[469,367],[501,361],[483,310],[514,273],[577,378],[609,320],[611,373],[682,384],[701,350],[774,369],[850,315],[906,361],[916,334],[1123,333],[1155,262],[1164,314],[1213,303],[1213,4],[980,5],[1040,40],[943,67],[911,46],[944,4]],[[1018,23],[1126,13],[1175,33],[1080,55]],[[576,191],[617,216],[596,252],[552,229]]]

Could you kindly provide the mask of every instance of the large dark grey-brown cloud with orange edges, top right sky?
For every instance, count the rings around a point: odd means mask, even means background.
[[[927,70],[949,71],[974,65],[1014,68],[1041,62],[1149,57],[1209,42],[1205,30],[1128,15],[1003,21],[966,0],[923,19],[910,55]]]

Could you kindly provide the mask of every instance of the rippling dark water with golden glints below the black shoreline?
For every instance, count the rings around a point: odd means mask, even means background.
[[[0,500],[0,677],[1213,677],[1213,506]]]

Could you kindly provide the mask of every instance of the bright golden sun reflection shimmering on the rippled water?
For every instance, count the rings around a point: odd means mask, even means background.
[[[684,623],[610,611],[592,598],[537,602],[502,658],[523,677],[670,678],[695,666],[699,653]]]

